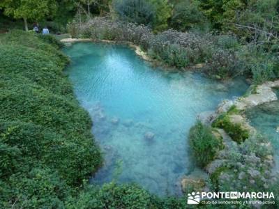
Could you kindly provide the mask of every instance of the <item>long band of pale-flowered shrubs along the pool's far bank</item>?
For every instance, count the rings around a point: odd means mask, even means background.
[[[233,38],[216,38],[211,34],[179,32],[173,29],[154,34],[148,26],[95,17],[83,24],[69,26],[72,36],[96,40],[128,41],[139,45],[153,59],[176,68],[206,63],[205,72],[226,78],[236,75],[237,56]]]

